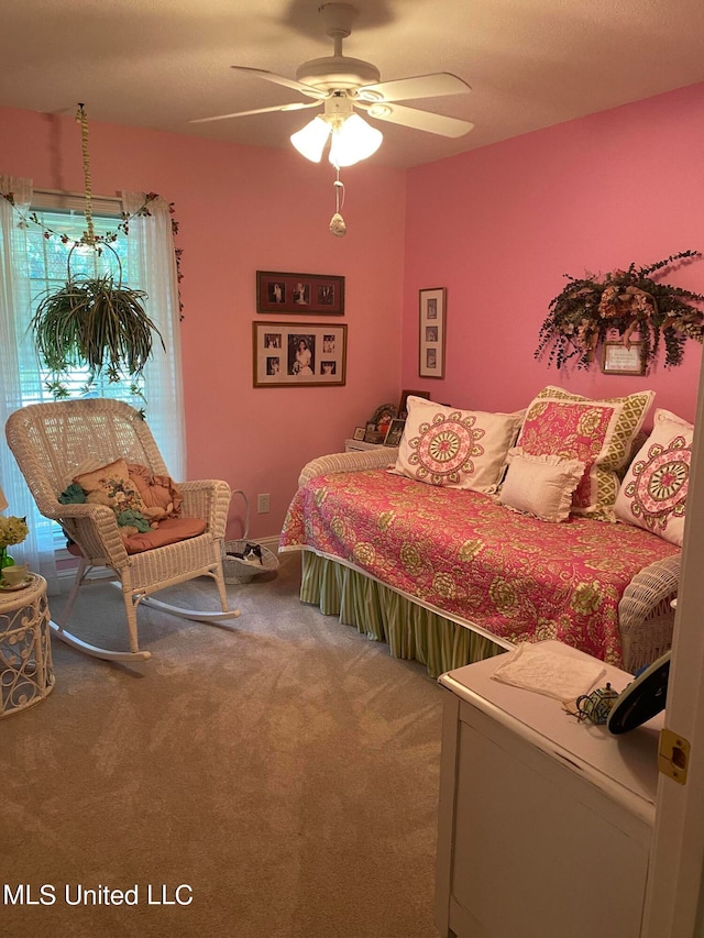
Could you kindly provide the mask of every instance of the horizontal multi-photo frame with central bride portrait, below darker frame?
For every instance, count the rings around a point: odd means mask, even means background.
[[[252,323],[254,387],[343,385],[346,380],[346,323]]]

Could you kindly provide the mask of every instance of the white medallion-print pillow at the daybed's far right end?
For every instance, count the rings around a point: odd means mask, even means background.
[[[682,547],[694,428],[658,408],[652,433],[630,464],[616,517]]]

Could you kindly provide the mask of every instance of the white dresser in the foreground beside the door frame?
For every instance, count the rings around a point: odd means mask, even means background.
[[[438,930],[638,938],[663,715],[612,736],[556,699],[491,680],[501,660],[440,677]],[[607,667],[598,683],[622,691],[632,680]]]

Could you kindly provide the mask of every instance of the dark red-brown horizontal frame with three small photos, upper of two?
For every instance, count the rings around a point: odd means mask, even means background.
[[[256,311],[273,316],[343,316],[344,277],[257,271]]]

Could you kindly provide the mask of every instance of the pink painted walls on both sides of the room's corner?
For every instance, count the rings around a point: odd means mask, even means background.
[[[329,166],[92,121],[89,132],[96,194],[153,190],[175,202],[188,475],[227,478],[253,507],[270,493],[271,514],[253,511],[253,537],[277,534],[300,467],[341,450],[402,387],[492,410],[524,407],[546,384],[592,396],[652,387],[656,406],[694,417],[692,342],[680,368],[659,364],[645,378],[557,372],[532,352],[563,273],[704,250],[704,85],[407,174],[374,161],[352,167],[344,239],[328,232]],[[82,190],[73,115],[0,109],[0,172]],[[257,269],[345,276],[345,387],[252,387]],[[667,280],[704,293],[704,261]],[[433,382],[418,377],[418,290],[438,286],[448,288],[448,357],[446,379]],[[233,504],[233,537],[240,520]]]

